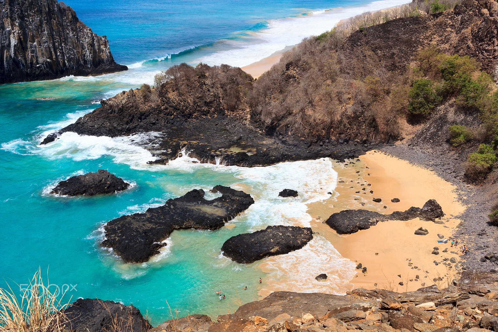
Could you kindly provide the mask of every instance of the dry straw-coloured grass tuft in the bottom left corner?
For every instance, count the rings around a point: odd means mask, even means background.
[[[48,281],[47,281],[48,283]],[[50,285],[50,284],[48,284]],[[57,300],[58,290],[51,293],[43,283],[40,269],[34,274],[28,287],[16,293],[0,289],[0,331],[2,332],[62,332],[66,315],[61,311],[69,303],[61,305],[64,296]],[[20,302],[18,297],[21,298]]]

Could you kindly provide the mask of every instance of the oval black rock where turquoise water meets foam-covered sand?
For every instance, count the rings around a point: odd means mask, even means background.
[[[247,264],[301,249],[312,239],[310,227],[268,226],[254,233],[232,236],[221,250],[233,261]]]

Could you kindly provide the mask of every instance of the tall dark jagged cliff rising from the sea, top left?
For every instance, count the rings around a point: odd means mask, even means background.
[[[0,84],[127,69],[114,61],[106,36],[92,32],[63,2],[0,3]]]

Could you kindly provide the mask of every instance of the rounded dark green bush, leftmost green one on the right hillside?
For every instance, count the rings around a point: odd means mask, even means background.
[[[429,115],[440,101],[434,92],[434,84],[426,78],[413,81],[413,86],[408,91],[408,97],[410,97],[408,111],[415,115]]]

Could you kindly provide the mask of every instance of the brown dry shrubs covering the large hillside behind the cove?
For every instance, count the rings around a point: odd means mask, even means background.
[[[411,69],[389,71],[368,49],[363,50],[363,57],[352,59],[353,55],[341,46],[355,31],[368,34],[372,25],[441,11],[455,4],[412,2],[366,12],[331,31],[305,38],[254,83],[247,98],[251,119],[270,135],[297,134],[315,142],[389,141],[398,137],[399,116],[413,115],[408,112]]]

